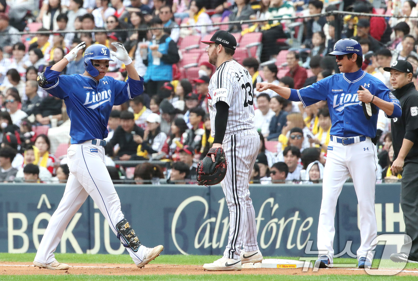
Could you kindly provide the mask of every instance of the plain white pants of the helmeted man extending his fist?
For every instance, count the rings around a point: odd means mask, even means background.
[[[375,214],[376,146],[370,138],[367,138],[364,142],[349,145],[331,141],[329,147],[332,147],[332,150],[328,149],[326,155],[318,222],[319,257],[328,255],[332,263],[335,208],[342,186],[351,175],[357,194],[360,216],[361,245],[357,250],[357,258],[367,256],[372,260],[373,255],[369,251],[374,250],[375,245],[372,246],[372,241],[377,237]]]

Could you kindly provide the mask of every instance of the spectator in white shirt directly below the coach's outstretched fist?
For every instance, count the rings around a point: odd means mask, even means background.
[[[258,108],[254,111],[254,126],[264,137],[270,134],[270,121],[275,116],[270,108],[270,101],[268,93],[260,93],[257,96]]]

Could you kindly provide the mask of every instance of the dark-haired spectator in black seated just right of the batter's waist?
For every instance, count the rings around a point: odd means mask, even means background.
[[[115,154],[119,160],[123,161],[130,160],[132,155],[136,155],[138,144],[143,137],[144,130],[135,124],[134,113],[122,111],[120,126],[117,127],[112,139],[106,144],[106,154]],[[115,149],[116,144],[119,144],[119,147]]]

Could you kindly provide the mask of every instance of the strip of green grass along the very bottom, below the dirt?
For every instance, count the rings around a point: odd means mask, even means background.
[[[358,281],[386,281],[386,280],[416,280],[416,276],[370,276],[370,275],[321,275],[321,276],[288,276],[288,275],[234,275],[229,274],[204,274],[204,275],[122,275],[122,276],[106,276],[106,275],[25,275],[25,276],[0,276],[0,280],[4,281],[338,281],[338,280],[358,280]]]

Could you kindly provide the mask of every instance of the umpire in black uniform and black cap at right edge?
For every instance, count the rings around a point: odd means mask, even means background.
[[[393,174],[403,170],[400,204],[405,221],[405,241],[401,252],[390,255],[390,259],[418,263],[418,91],[412,82],[410,62],[398,59],[383,70],[390,72],[390,83],[395,89],[393,94],[402,107],[402,116],[391,121],[395,159],[391,170]]]

